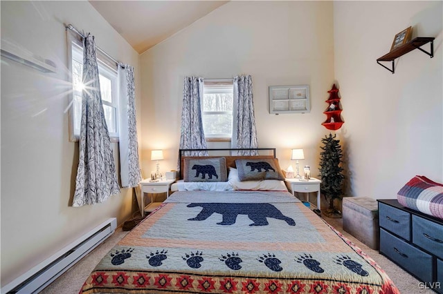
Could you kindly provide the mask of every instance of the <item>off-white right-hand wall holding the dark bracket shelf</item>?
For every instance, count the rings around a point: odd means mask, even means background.
[[[443,182],[442,17],[442,1],[334,2],[350,195],[395,198],[415,175]],[[376,59],[408,26],[435,37],[434,57],[409,52],[392,75]]]

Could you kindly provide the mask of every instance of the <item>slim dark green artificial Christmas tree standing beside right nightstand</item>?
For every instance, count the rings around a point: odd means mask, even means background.
[[[320,176],[321,192],[329,201],[329,208],[325,211],[327,217],[341,217],[341,211],[334,207],[334,199],[341,199],[343,195],[343,168],[341,167],[341,157],[343,157],[340,140],[335,139],[336,135],[325,136],[321,139],[323,150],[320,153]]]

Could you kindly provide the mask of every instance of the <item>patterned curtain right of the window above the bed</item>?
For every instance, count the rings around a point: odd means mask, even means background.
[[[232,148],[258,148],[251,75],[234,78],[233,112]],[[240,150],[237,154],[258,155],[258,152],[257,150]]]

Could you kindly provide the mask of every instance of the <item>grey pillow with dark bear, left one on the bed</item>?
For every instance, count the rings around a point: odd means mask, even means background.
[[[228,180],[226,159],[185,158],[183,162],[184,182],[226,182]]]

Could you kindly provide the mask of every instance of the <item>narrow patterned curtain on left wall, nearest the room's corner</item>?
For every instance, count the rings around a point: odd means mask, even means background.
[[[138,186],[141,181],[138,164],[138,142],[134,68],[118,66],[120,177],[124,188]]]

